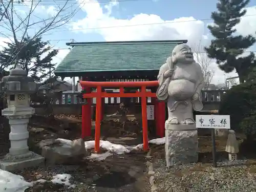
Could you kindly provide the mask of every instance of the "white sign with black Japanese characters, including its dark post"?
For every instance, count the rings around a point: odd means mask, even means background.
[[[230,116],[229,115],[196,115],[196,127],[211,129],[212,160],[213,160],[214,167],[217,167],[215,129],[230,129]]]

